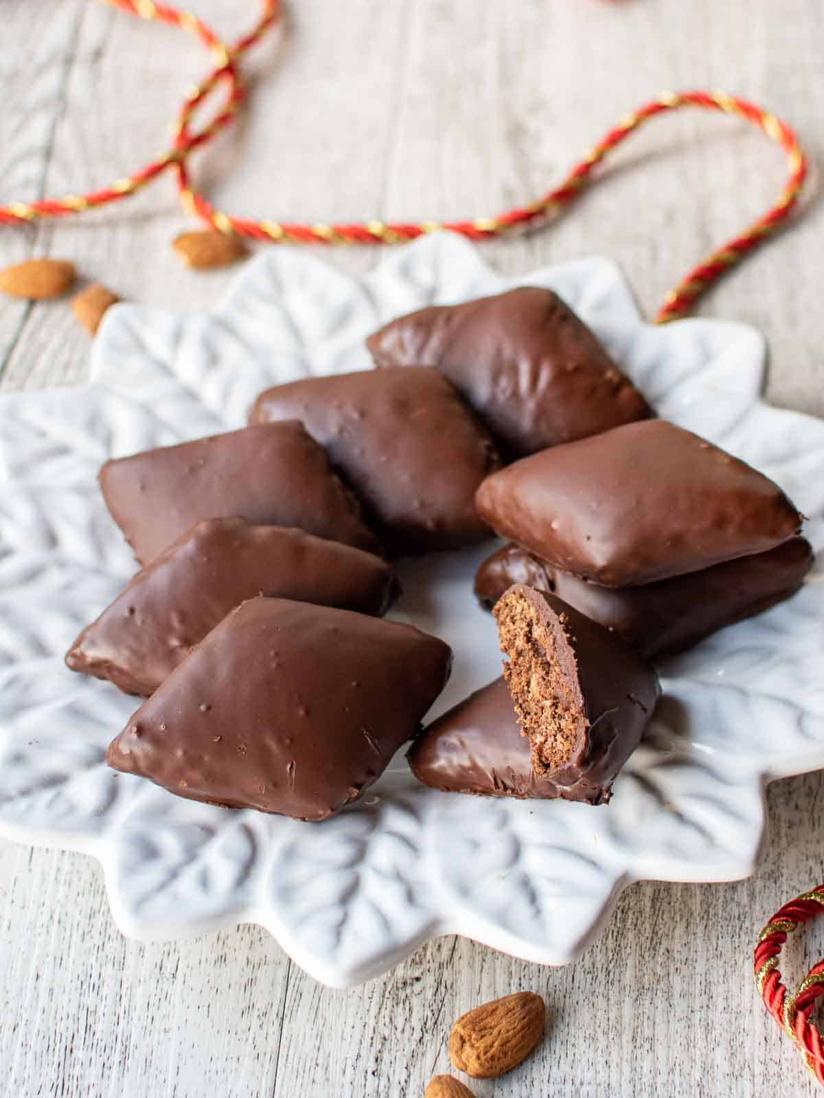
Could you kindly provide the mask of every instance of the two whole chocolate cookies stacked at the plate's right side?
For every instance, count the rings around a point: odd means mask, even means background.
[[[787,598],[812,561],[803,516],[772,481],[664,419],[517,461],[477,504],[510,539],[478,570],[483,605],[530,583],[647,659]]]

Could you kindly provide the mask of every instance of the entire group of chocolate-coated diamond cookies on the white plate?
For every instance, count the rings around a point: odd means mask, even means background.
[[[367,343],[374,370],[278,385],[241,430],[101,470],[142,569],[66,659],[146,698],[109,763],[316,821],[414,739],[428,785],[605,803],[658,696],[647,661],[788,597],[811,563],[801,516],[652,418],[549,290]],[[510,544],[476,592],[504,675],[422,731],[453,653],[381,620],[391,561],[493,531]]]

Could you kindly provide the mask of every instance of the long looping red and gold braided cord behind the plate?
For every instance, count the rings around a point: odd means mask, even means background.
[[[260,0],[261,13],[253,30],[234,45],[226,45],[202,20],[191,12],[156,3],[155,0],[103,0],[121,11],[141,19],[157,20],[179,26],[197,37],[212,54],[216,67],[209,77],[190,93],[180,110],[172,147],[151,164],[115,180],[102,190],[88,194],[67,194],[59,199],[44,199],[40,202],[12,202],[0,206],[0,224],[20,224],[38,217],[59,217],[82,213],[96,206],[116,202],[134,194],[152,182],[167,168],[177,173],[180,198],[186,209],[212,228],[222,233],[275,244],[399,244],[438,229],[450,229],[472,240],[492,239],[517,228],[541,224],[570,204],[589,182],[595,167],[631,133],[650,119],[667,111],[697,107],[702,110],[720,111],[757,125],[768,137],[777,142],[787,154],[789,177],[778,201],[753,225],[723,247],[713,251],[698,267],[689,272],[675,290],[667,294],[664,305],[656,316],[657,323],[684,315],[698,298],[704,293],[731,267],[741,262],[766,237],[779,229],[798,203],[806,177],[808,164],[794,132],[780,119],[754,103],[723,92],[683,91],[666,92],[631,114],[624,115],[580,160],[566,179],[554,190],[535,202],[514,210],[506,210],[492,217],[475,217],[469,221],[452,222],[383,222],[371,220],[357,223],[300,224],[272,220],[253,221],[237,217],[216,210],[198,191],[188,169],[188,156],[210,142],[234,117],[244,100],[244,89],[238,72],[238,61],[243,54],[257,43],[279,20],[280,0]],[[190,122],[196,109],[201,107],[212,92],[225,85],[226,98],[219,113],[199,132],[192,132]]]

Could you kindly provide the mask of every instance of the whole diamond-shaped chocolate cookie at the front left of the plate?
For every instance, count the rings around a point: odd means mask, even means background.
[[[356,800],[449,676],[409,625],[282,598],[233,610],[110,744],[171,793],[322,820]]]

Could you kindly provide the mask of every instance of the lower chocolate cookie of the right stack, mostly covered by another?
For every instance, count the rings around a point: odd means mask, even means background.
[[[812,564],[810,542],[790,538],[767,552],[738,557],[700,572],[641,587],[604,587],[508,545],[480,565],[475,593],[487,609],[513,583],[556,594],[650,660],[682,652],[716,629],[789,598]]]

